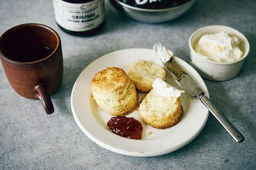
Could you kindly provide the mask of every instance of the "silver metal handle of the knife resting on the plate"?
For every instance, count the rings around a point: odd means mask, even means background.
[[[221,125],[228,131],[228,133],[235,139],[236,142],[244,141],[244,136],[229,122],[229,120],[221,114],[214,104],[210,101],[207,96],[197,96],[200,101],[206,106],[206,108],[214,115],[214,117],[220,122]]]

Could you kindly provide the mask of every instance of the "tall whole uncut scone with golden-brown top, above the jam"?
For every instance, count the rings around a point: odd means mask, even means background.
[[[117,67],[109,67],[95,74],[91,89],[100,108],[114,116],[130,113],[138,103],[134,83],[123,69]]]

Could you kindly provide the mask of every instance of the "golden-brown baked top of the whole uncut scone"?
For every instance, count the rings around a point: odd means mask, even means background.
[[[113,91],[123,88],[128,81],[128,76],[123,69],[108,67],[99,71],[91,81],[92,90]]]

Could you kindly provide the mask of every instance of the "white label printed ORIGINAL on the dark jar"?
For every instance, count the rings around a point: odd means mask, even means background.
[[[56,22],[69,31],[89,31],[104,20],[104,0],[89,3],[67,3],[53,0]]]

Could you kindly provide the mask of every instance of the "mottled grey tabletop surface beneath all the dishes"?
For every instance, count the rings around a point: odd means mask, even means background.
[[[0,0],[0,34],[26,22],[49,25],[61,36],[64,57],[64,78],[51,97],[52,115],[44,113],[40,101],[18,96],[0,66],[0,169],[256,169],[255,9],[255,0],[200,0],[175,20],[143,24],[120,17],[106,1],[104,29],[79,38],[58,28],[51,0]],[[234,27],[250,41],[250,55],[236,78],[205,80],[212,102],[245,136],[243,143],[236,143],[212,115],[191,143],[157,157],[110,152],[83,134],[72,117],[70,94],[84,67],[106,53],[152,48],[157,41],[189,62],[190,34],[212,24]]]

